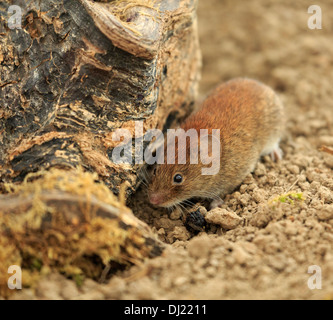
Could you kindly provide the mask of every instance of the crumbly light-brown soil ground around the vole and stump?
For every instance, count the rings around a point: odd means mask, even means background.
[[[273,87],[287,110],[283,160],[263,159],[224,199],[222,211],[237,214],[238,225],[193,236],[179,213],[153,209],[142,187],[130,206],[168,244],[161,257],[80,289],[53,274],[12,298],[333,299],[333,155],[319,150],[333,147],[333,3],[320,2],[321,30],[308,28],[311,4],[199,4],[201,99],[219,82],[246,76]],[[316,283],[312,265],[322,289],[308,286]]]

